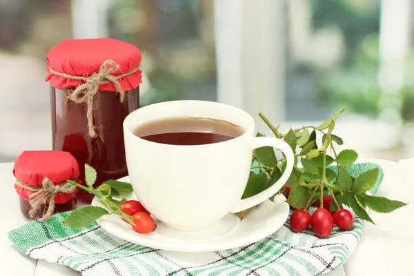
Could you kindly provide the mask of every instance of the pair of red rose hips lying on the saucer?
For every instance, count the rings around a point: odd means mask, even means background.
[[[132,225],[137,233],[150,233],[157,225],[154,219],[150,216],[150,213],[142,206],[141,202],[137,200],[127,200],[121,204],[121,211],[126,215],[132,216],[132,221],[135,225]]]

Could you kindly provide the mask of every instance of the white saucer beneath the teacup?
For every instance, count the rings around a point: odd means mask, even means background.
[[[119,181],[129,182],[130,179],[123,177]],[[131,193],[128,199],[137,197]],[[253,244],[279,230],[289,215],[289,205],[285,200],[284,195],[277,195],[275,203],[264,201],[243,221],[234,214],[228,214],[213,227],[199,231],[175,230],[155,219],[157,229],[154,232],[139,234],[119,215],[105,215],[97,223],[115,237],[150,248],[181,252],[218,251]],[[92,200],[92,205],[105,208],[98,197]]]

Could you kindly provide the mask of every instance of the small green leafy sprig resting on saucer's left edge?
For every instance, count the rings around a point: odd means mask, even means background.
[[[63,221],[64,224],[80,228],[92,224],[103,215],[110,215],[115,213],[120,215],[123,219],[128,221],[130,224],[135,225],[132,222],[132,217],[121,211],[121,204],[126,201],[125,198],[121,200],[114,199],[112,196],[118,196],[124,193],[132,193],[132,186],[129,183],[121,182],[117,180],[108,180],[103,182],[103,184],[93,187],[95,181],[97,180],[97,171],[85,164],[85,181],[86,186],[82,186],[75,181],[68,180],[68,183],[77,186],[86,192],[96,195],[101,199],[102,203],[108,207],[108,210],[98,206],[86,206],[80,209],[76,209],[66,219]]]

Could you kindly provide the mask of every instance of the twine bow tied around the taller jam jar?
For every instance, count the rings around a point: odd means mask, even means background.
[[[57,75],[60,77],[65,77],[66,79],[75,79],[83,81],[83,83],[78,86],[73,92],[68,95],[68,99],[75,101],[75,103],[86,103],[88,106],[88,112],[86,117],[88,118],[88,134],[90,137],[96,137],[97,132],[95,131],[95,126],[93,125],[93,97],[97,94],[99,90],[99,85],[112,83],[115,86],[117,93],[119,93],[119,101],[123,102],[125,97],[125,92],[122,90],[121,85],[119,84],[118,79],[132,75],[133,73],[139,70],[139,66],[136,68],[125,72],[121,75],[111,75],[111,72],[115,72],[119,69],[119,66],[115,61],[107,60],[103,62],[101,68],[97,72],[94,72],[90,77],[81,77],[68,75],[63,72],[59,72],[53,68],[49,68],[49,71],[52,75]]]

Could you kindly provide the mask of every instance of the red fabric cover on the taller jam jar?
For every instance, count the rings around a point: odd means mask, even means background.
[[[105,61],[112,60],[119,69],[111,75],[117,76],[137,68],[141,63],[141,52],[130,43],[116,39],[68,39],[53,47],[46,59],[46,81],[55,88],[69,88],[79,86],[82,81],[53,75],[49,68],[72,76],[90,77]],[[141,70],[118,81],[124,91],[135,89],[141,83]],[[99,85],[99,90],[116,91],[116,88],[112,83],[104,83]]]

